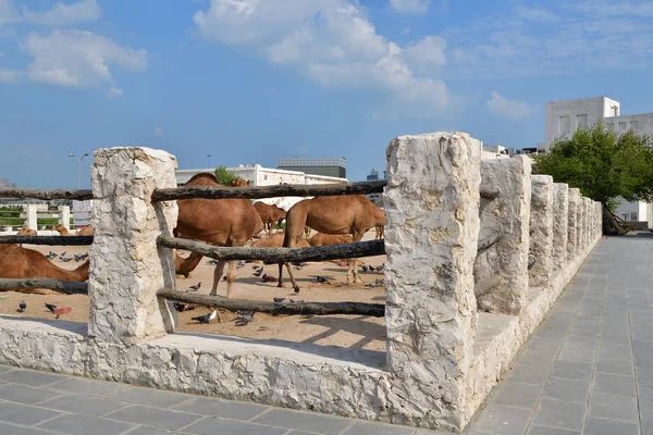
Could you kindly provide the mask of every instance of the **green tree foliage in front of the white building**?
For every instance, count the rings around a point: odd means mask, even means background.
[[[617,198],[651,201],[653,150],[651,137],[632,130],[619,136],[596,123],[578,129],[570,138],[556,139],[547,154],[538,154],[540,174],[567,183],[595,201],[611,207]]]

